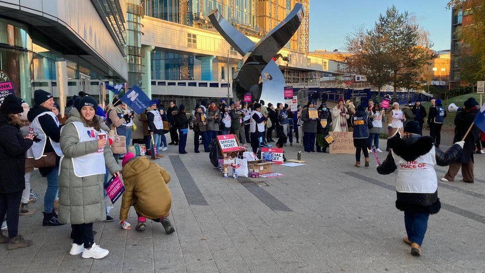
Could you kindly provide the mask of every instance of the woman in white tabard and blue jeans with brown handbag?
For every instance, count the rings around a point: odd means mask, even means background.
[[[40,89],[34,91],[34,103],[34,107],[29,110],[27,118],[31,123],[29,131],[36,138],[30,150],[27,151],[27,157],[40,159],[45,153],[56,153],[57,155],[54,167],[39,168],[39,172],[47,178],[42,225],[58,226],[60,223],[54,211],[54,201],[59,188],[59,157],[62,155],[61,146],[59,145],[61,137],[60,122],[52,112],[52,109],[55,108],[55,101],[51,93]]]

